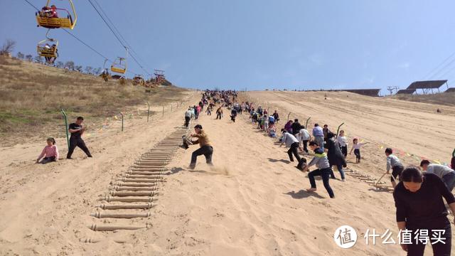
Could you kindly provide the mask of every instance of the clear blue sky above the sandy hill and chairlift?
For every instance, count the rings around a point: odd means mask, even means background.
[[[164,69],[182,87],[405,88],[455,78],[455,63],[428,75],[455,52],[455,1],[97,1],[149,73]],[[111,59],[123,55],[88,1],[75,6],[75,36]],[[35,10],[23,0],[0,7],[1,42],[14,39],[16,52],[35,54],[46,32],[36,27]],[[60,60],[102,66],[103,58],[65,31],[50,33],[60,41]],[[129,68],[144,73],[131,58]]]

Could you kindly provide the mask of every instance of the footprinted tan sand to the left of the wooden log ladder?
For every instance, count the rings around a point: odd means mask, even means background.
[[[102,133],[92,133],[85,139],[93,159],[87,159],[80,149],[74,160],[53,164],[34,164],[44,144],[18,144],[1,148],[0,160],[0,255],[18,252],[21,255],[92,255],[100,252],[86,247],[79,238],[102,238],[86,225],[94,220],[89,214],[98,204],[97,198],[108,191],[109,182],[130,166],[134,159],[182,124],[181,112],[198,100],[181,99],[184,105],[177,115],[166,110],[161,114],[120,122]],[[157,112],[161,107],[156,106]],[[90,133],[90,130],[87,132]],[[60,155],[65,157],[65,140],[58,139]],[[86,249],[93,251],[85,252]]]

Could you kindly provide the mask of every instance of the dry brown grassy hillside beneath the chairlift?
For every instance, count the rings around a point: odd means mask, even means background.
[[[130,82],[102,81],[93,75],[14,60],[0,55],[0,145],[23,142],[33,135],[55,136],[60,108],[92,122],[135,105],[170,102],[183,89],[168,86],[145,93]],[[50,134],[49,134],[50,133]]]

